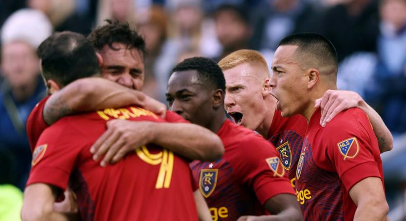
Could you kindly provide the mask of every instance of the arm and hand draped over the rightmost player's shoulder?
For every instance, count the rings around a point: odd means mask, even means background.
[[[368,105],[357,93],[348,90],[327,90],[324,96],[316,100],[315,107],[321,108],[320,124],[324,126],[340,112],[352,108],[361,108],[374,127],[375,136],[378,138],[381,153],[393,149],[393,136],[386,127],[379,114]]]

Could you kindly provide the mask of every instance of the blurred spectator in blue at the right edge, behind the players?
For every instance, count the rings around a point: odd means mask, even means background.
[[[382,1],[380,15],[378,64],[366,96],[390,130],[400,134],[406,132],[406,1]]]

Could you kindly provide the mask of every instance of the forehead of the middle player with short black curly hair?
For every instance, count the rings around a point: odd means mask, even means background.
[[[204,87],[204,83],[199,79],[197,70],[184,70],[173,72],[168,81],[168,91],[188,89],[198,91]]]

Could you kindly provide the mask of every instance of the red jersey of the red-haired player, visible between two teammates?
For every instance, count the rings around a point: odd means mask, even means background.
[[[267,135],[267,139],[279,152],[282,165],[287,170],[293,188],[306,128],[307,121],[302,115],[282,117],[281,111],[275,110]]]

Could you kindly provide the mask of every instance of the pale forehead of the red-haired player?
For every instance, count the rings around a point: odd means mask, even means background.
[[[224,70],[224,78],[226,85],[247,84],[258,80],[261,75],[258,75],[259,68],[255,68],[249,63],[242,63],[233,68]]]

